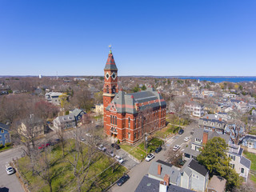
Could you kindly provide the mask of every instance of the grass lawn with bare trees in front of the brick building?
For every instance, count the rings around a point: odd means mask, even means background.
[[[54,158],[60,159],[58,162],[50,168],[50,170],[57,170],[59,174],[53,179],[52,188],[53,191],[71,191],[76,186],[76,181],[73,174],[73,166],[70,166],[68,158],[71,159],[71,154],[66,153],[66,156],[62,157],[62,149],[60,146],[52,146],[53,150],[51,154]],[[83,148],[84,151],[89,150],[86,145]],[[68,151],[66,147],[66,151]],[[44,153],[44,152],[42,152]],[[122,176],[126,172],[124,166],[120,166],[118,163],[110,166],[115,160],[103,154],[97,152],[92,164],[90,165],[86,182],[82,186],[82,191],[102,191],[106,190],[113,182]],[[109,167],[106,169],[107,167]],[[18,170],[26,179],[30,185],[31,191],[50,191],[49,186],[36,174],[32,174],[30,159],[28,157],[18,159]],[[103,171],[105,170],[105,171]],[[103,171],[103,172],[102,172]],[[102,173],[102,174],[101,174]]]

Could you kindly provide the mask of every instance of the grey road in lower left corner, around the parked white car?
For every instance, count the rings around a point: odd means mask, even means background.
[[[0,191],[23,192],[22,185],[16,174],[6,174],[6,164],[12,159],[21,158],[23,151],[20,147],[6,150],[0,153]]]

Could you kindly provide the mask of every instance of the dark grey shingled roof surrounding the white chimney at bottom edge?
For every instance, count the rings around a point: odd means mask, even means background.
[[[138,184],[135,192],[158,192],[159,191],[159,181],[154,178],[149,178],[144,176],[142,181]],[[187,190],[180,186],[170,185],[167,188],[167,192],[191,192],[193,190]]]

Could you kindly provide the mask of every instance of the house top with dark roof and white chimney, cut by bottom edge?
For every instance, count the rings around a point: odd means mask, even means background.
[[[157,179],[144,176],[138,184],[135,192],[192,192],[180,186],[168,185],[168,176],[166,181],[159,182]]]

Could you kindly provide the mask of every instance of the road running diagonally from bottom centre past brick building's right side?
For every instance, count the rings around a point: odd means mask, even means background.
[[[139,182],[141,182],[142,178],[144,175],[148,173],[148,170],[150,168],[150,164],[152,162],[157,161],[158,159],[161,159],[163,161],[166,160],[167,158],[167,151],[172,149],[174,145],[180,145],[182,148],[186,147],[186,144],[189,142],[184,142],[184,138],[188,137],[191,135],[191,131],[197,126],[197,123],[193,122],[189,126],[186,126],[184,128],[184,133],[182,135],[176,135],[172,138],[170,138],[165,146],[162,146],[162,151],[159,152],[158,154],[155,154],[155,158],[152,159],[150,162],[143,161],[140,164],[134,166],[130,172],[128,173],[130,176],[130,179],[125,182],[122,186],[117,186],[114,185],[109,191],[111,192],[131,192],[136,190]]]

